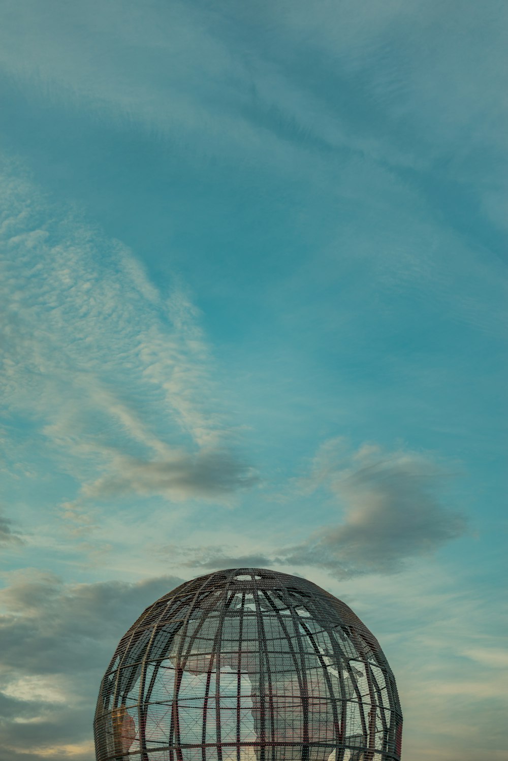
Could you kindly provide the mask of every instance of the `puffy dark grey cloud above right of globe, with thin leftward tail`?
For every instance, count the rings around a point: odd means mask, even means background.
[[[308,566],[338,578],[395,573],[465,533],[465,518],[443,499],[447,480],[449,473],[430,455],[383,452],[374,444],[351,452],[343,439],[331,439],[320,447],[310,474],[298,479],[297,490],[310,498],[331,494],[341,522],[320,527],[296,546],[243,556],[202,548],[186,564]]]

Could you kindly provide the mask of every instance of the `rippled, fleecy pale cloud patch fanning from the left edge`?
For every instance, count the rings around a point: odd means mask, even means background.
[[[81,497],[252,486],[185,288],[160,293],[122,244],[27,180],[7,172],[2,196],[2,390]]]

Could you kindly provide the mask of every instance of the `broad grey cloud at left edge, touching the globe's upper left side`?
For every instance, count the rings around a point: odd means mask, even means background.
[[[167,576],[136,584],[64,584],[30,569],[9,574],[8,581],[0,590],[4,678],[11,670],[33,677],[106,667],[112,643],[144,607],[181,583]]]

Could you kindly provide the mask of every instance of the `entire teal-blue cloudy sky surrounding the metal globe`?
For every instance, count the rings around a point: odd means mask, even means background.
[[[126,629],[302,575],[407,761],[506,759],[506,3],[0,0],[0,761]]]

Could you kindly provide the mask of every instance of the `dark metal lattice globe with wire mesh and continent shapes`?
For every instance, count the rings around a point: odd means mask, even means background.
[[[211,573],[148,607],[116,648],[97,761],[400,759],[392,671],[353,611],[260,568]]]

